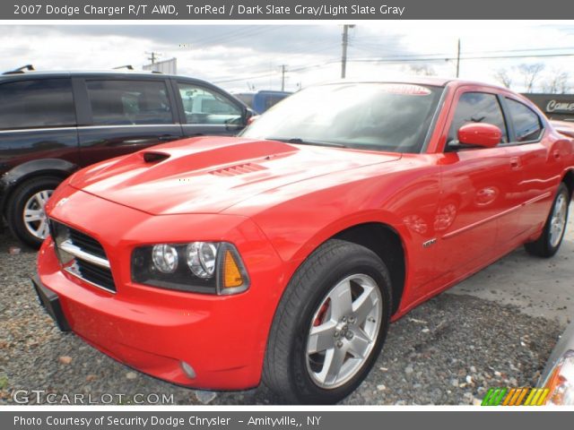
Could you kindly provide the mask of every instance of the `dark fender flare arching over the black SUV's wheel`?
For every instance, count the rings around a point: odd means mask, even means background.
[[[59,176],[62,179],[70,176],[79,167],[65,159],[34,159],[22,163],[0,176],[0,214],[4,214],[6,202],[16,186],[22,181],[41,175]]]

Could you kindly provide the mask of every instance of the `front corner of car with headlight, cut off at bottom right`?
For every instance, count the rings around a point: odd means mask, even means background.
[[[546,405],[574,406],[574,322],[562,333],[537,386],[548,389]]]

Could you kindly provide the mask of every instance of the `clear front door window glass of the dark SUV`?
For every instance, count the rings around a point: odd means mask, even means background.
[[[214,91],[178,82],[187,124],[239,124],[241,108]]]

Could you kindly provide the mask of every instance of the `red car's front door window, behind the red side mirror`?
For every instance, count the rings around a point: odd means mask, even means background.
[[[501,143],[509,142],[506,123],[498,98],[485,92],[465,92],[458,99],[457,110],[448,131],[447,144],[458,143],[458,129],[469,123],[496,125],[502,132]]]

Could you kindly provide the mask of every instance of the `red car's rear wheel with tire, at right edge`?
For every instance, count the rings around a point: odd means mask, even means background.
[[[570,192],[562,182],[552,202],[552,209],[544,224],[542,236],[525,245],[528,254],[550,258],[558,252],[568,223],[569,206]]]

